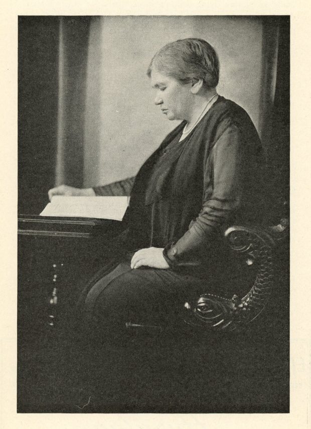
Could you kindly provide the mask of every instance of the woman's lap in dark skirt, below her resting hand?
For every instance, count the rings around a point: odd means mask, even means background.
[[[92,329],[100,331],[124,330],[126,322],[168,324],[178,319],[198,283],[198,279],[172,269],[131,269],[128,255],[91,288],[85,299],[85,315]]]

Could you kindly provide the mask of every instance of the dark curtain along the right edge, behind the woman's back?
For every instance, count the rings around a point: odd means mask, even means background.
[[[288,16],[270,18],[265,37],[266,64],[271,71],[267,72],[263,97],[266,108],[262,139],[270,171],[271,212],[275,210],[276,216],[288,207],[284,203],[289,202],[289,20]]]

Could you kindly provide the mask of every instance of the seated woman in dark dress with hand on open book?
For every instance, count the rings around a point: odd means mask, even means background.
[[[116,195],[134,182],[123,220],[126,254],[89,287],[84,301],[102,337],[122,332],[128,321],[176,320],[189,294],[206,292],[216,268],[224,271],[223,230],[257,222],[262,214],[261,143],[248,114],[216,92],[213,47],[194,38],[169,43],[154,55],[147,75],[154,103],[169,120],[183,122],[135,180],[49,191],[50,197]]]

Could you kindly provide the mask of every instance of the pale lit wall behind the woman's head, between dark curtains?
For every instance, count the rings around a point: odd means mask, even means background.
[[[186,37],[214,46],[221,64],[219,94],[244,107],[259,127],[260,17],[96,17],[89,38],[85,187],[135,175],[177,125],[153,104],[146,69],[158,49]]]

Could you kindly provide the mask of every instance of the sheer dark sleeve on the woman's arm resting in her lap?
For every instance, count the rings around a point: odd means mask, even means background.
[[[171,266],[188,265],[207,254],[214,239],[243,199],[245,143],[239,128],[232,125],[213,146],[204,172],[202,209],[188,231],[173,245],[167,246],[164,257]]]

